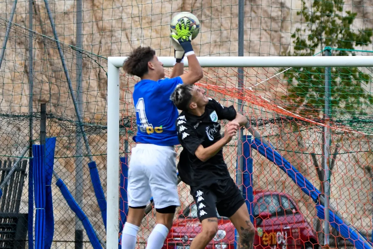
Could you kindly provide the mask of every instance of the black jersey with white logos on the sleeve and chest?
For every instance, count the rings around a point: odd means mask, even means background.
[[[186,111],[180,113],[176,126],[179,142],[183,147],[178,164],[179,176],[183,182],[190,186],[201,186],[231,177],[224,162],[223,149],[206,162],[199,160],[195,151],[200,145],[206,148],[222,138],[218,120],[233,120],[235,117],[233,105],[223,107],[211,98],[202,116]]]

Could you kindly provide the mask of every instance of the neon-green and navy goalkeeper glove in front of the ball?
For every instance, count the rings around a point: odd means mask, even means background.
[[[194,26],[191,25],[191,21],[181,19],[175,25],[176,32],[171,32],[172,40],[181,45],[185,51],[185,55],[194,54],[193,47],[191,44],[192,33],[194,31]]]

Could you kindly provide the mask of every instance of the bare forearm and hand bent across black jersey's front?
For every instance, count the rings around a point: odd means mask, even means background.
[[[237,126],[227,124],[225,128],[225,135],[223,136],[223,138],[206,148],[204,148],[202,145],[198,146],[197,150],[195,151],[195,156],[198,157],[199,160],[206,162],[211,157],[216,155],[216,153],[219,152],[224,145],[228,144],[228,142],[231,141],[232,137],[236,134]]]

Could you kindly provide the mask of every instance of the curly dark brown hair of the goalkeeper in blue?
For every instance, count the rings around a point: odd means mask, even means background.
[[[123,70],[129,75],[138,77],[144,76],[148,72],[148,62],[150,62],[156,51],[151,47],[138,47],[133,50],[123,63]]]

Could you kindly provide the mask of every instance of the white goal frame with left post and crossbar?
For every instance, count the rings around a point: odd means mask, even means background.
[[[119,233],[119,69],[127,57],[107,59],[107,228],[106,248],[118,248]],[[174,57],[158,57],[173,67]],[[197,57],[202,67],[373,67],[373,56]],[[184,67],[188,67],[185,60]]]

